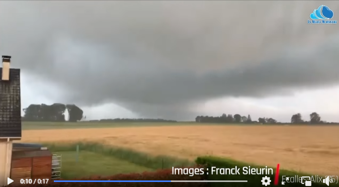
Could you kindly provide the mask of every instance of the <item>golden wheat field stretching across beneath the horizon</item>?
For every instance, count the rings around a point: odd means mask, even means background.
[[[339,175],[339,126],[167,126],[24,130],[24,142],[97,141],[153,155],[232,159]]]

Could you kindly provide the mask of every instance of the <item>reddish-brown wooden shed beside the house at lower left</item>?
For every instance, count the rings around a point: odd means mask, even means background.
[[[51,179],[52,153],[39,144],[13,143],[11,179]]]

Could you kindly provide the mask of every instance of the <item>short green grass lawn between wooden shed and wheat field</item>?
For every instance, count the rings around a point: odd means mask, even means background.
[[[125,160],[88,151],[80,151],[76,162],[75,151],[55,152],[62,155],[61,178],[72,179],[93,175],[109,176],[119,173],[139,173],[152,171]]]

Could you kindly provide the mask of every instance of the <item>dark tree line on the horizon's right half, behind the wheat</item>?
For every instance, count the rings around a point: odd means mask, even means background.
[[[261,124],[282,124],[273,118],[259,118],[258,121],[252,121],[250,115],[241,116],[240,114],[222,114],[218,117],[213,116],[197,116],[195,118],[197,123],[261,123]],[[300,113],[294,114],[291,117],[292,124],[324,124],[328,122],[322,121],[318,113],[313,112],[309,115],[309,121],[303,120]],[[337,124],[336,122],[330,122],[330,124]]]

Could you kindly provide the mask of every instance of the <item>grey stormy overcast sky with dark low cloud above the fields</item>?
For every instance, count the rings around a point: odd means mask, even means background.
[[[22,106],[87,119],[250,114],[339,121],[336,1],[0,1],[0,54],[22,69]]]

